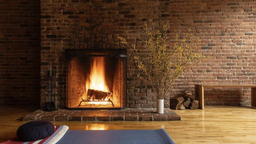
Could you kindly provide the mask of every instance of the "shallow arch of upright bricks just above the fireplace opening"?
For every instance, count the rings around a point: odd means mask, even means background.
[[[81,43],[73,46],[71,49],[120,49],[123,48],[116,44],[103,42]]]

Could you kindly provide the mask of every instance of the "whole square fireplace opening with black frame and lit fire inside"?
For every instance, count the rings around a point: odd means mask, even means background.
[[[67,49],[66,107],[126,109],[126,49]]]

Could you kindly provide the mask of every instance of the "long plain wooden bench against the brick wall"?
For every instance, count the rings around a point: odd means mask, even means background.
[[[204,109],[203,89],[205,87],[244,87],[251,88],[251,106],[256,107],[256,85],[255,84],[195,84],[195,99],[199,101],[199,108]]]

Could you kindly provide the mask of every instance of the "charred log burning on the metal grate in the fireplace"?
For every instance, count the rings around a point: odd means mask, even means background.
[[[101,90],[88,89],[87,98],[88,100],[105,100],[106,97],[111,96],[111,92],[105,92]]]

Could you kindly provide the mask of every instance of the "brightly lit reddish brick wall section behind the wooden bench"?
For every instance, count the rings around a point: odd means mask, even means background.
[[[194,83],[255,83],[255,0],[172,0],[170,37],[192,29],[210,59],[184,73],[173,92]],[[181,90],[180,90],[181,89]],[[206,104],[250,104],[250,89],[205,89]]]

